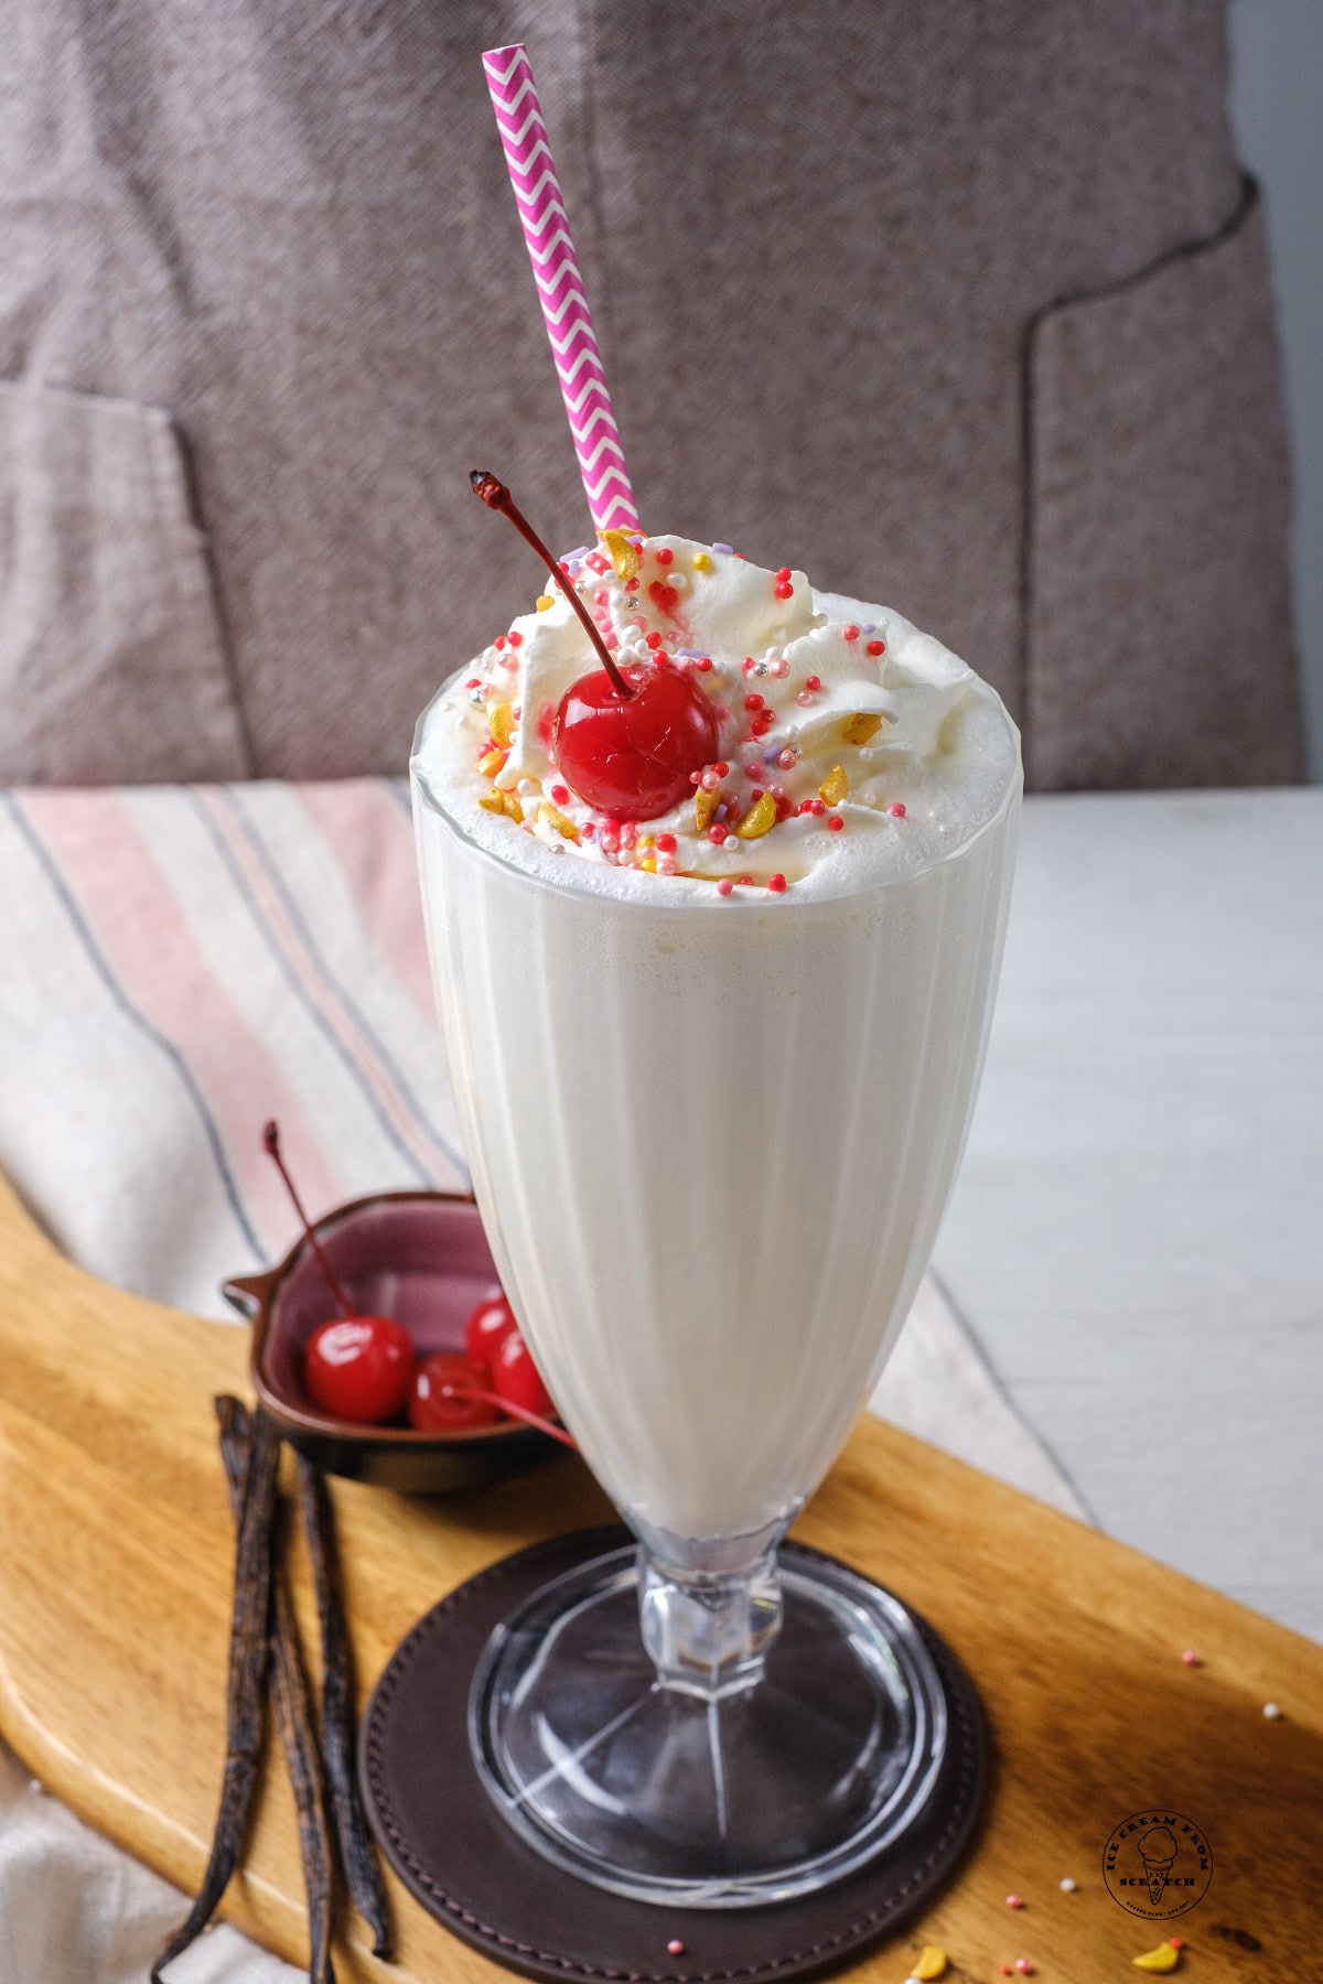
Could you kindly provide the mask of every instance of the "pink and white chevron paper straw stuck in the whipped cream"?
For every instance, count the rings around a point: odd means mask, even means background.
[[[597,530],[639,530],[625,450],[611,413],[607,375],[569,238],[528,50],[522,42],[488,48],[482,67],[492,91],[500,141],[506,147],[514,200],[524,222],[528,258],[534,264],[534,282],[593,524]]]

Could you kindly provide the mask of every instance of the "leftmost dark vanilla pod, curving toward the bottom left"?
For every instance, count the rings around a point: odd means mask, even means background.
[[[230,1875],[238,1867],[248,1829],[266,1724],[262,1684],[270,1649],[268,1617],[272,1603],[272,1528],[276,1520],[278,1468],[280,1434],[258,1413],[236,1526],[234,1621],[230,1627],[230,1674],[226,1682],[226,1760],[216,1831],[202,1887],[188,1911],[188,1919],[177,1928],[151,1966],[153,1984],[161,1984],[163,1968],[206,1928]]]

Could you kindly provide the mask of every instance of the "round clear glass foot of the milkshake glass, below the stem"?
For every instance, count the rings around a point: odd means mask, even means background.
[[[639,1551],[553,1579],[496,1629],[468,1738],[506,1821],[635,1901],[752,1909],[855,1873],[918,1821],[946,1694],[899,1599],[789,1550],[758,1678],[664,1684],[639,1633]]]

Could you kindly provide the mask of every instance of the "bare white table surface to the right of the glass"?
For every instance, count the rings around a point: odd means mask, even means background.
[[[1095,1520],[1323,1639],[1323,792],[1025,806],[936,1266]]]

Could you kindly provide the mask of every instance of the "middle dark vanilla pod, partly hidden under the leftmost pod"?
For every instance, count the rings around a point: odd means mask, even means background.
[[[244,1470],[252,1452],[252,1415],[238,1399],[222,1397],[216,1399],[216,1419],[220,1421],[220,1458],[230,1482],[230,1508],[238,1516]],[[325,1809],[307,1676],[300,1659],[298,1621],[280,1561],[272,1569],[270,1637],[272,1700],[298,1807],[300,1859],[307,1891],[307,1976],[311,1984],[335,1984],[331,1966],[331,1823]]]

